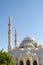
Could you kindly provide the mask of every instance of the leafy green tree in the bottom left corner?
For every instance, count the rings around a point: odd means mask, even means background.
[[[0,51],[0,65],[14,65],[12,57],[5,51]]]

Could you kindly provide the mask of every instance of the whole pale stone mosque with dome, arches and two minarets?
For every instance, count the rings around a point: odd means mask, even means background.
[[[8,24],[8,52],[13,57],[15,65],[43,65],[43,46],[38,45],[33,37],[25,37],[18,46],[18,36],[15,29],[15,47],[12,49],[12,18]]]

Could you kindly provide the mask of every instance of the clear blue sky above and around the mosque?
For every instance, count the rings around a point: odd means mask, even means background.
[[[26,36],[43,45],[43,0],[0,0],[0,50],[8,49],[8,18],[12,17],[12,47],[15,27],[18,45]]]

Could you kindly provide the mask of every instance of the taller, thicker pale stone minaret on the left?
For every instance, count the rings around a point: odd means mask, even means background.
[[[8,24],[8,52],[12,49],[12,18],[9,16],[9,24]]]

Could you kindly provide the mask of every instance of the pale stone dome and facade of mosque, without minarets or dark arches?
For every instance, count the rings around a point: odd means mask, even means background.
[[[33,43],[36,44],[36,40],[34,38],[26,37],[19,47],[11,50],[10,55],[13,56],[14,59],[18,59],[15,60],[15,64],[17,61],[17,64],[20,65],[20,61],[22,60],[24,65],[26,65],[26,61],[29,60],[30,65],[33,65],[34,60],[36,60],[37,65],[43,65],[43,47],[35,47]]]

